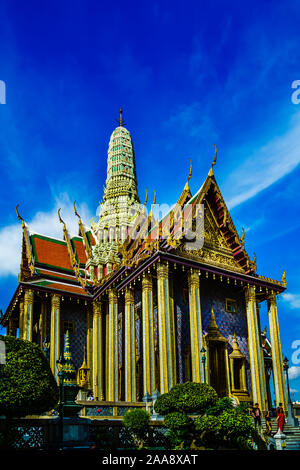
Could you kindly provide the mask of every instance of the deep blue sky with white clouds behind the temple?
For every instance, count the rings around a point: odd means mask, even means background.
[[[0,5],[0,307],[17,286],[21,227],[76,230],[96,219],[120,106],[139,194],[173,204],[193,161],[194,193],[215,175],[278,303],[293,397],[300,400],[300,2],[3,0]],[[73,229],[74,227],[74,229]],[[267,324],[262,307],[262,324]],[[294,355],[293,355],[294,353]],[[293,360],[292,360],[293,358]]]

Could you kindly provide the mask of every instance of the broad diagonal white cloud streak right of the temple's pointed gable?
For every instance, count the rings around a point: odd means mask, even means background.
[[[265,146],[252,151],[228,176],[224,193],[230,208],[256,196],[293,171],[300,163],[300,113],[291,122],[286,133],[272,139]]]

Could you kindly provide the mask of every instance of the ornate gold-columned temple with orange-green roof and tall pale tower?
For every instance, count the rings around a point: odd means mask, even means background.
[[[86,386],[98,401],[138,403],[194,381],[266,410],[272,378],[287,410],[277,312],[285,272],[280,281],[257,274],[214,176],[216,157],[194,195],[191,166],[177,203],[155,217],[155,197],[149,213],[147,196],[140,203],[120,112],[98,221],[84,224],[75,201],[78,235],[59,210],[56,239],[31,231],[17,207],[23,242],[18,286],[1,319],[7,334],[47,347],[57,377],[68,332],[75,368],[89,369]]]

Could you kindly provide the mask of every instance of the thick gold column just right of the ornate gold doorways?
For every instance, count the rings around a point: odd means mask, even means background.
[[[260,330],[258,327],[258,311],[255,295],[255,287],[248,286],[245,289],[248,347],[250,357],[251,383],[253,403],[258,403],[261,410],[267,409],[266,377],[261,347]]]

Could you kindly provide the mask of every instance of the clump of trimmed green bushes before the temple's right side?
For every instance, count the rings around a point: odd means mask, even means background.
[[[234,407],[230,398],[218,398],[207,384],[175,385],[157,399],[154,408],[164,416],[175,449],[251,449],[252,440],[257,440],[247,405]]]

